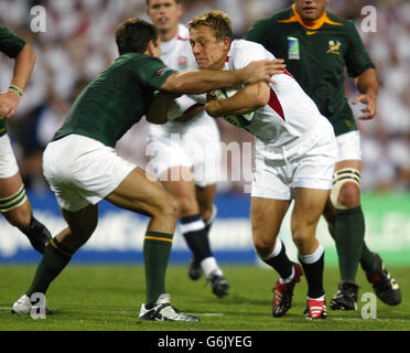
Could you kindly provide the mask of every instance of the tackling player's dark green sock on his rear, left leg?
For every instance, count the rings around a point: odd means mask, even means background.
[[[72,255],[57,239],[51,239],[44,249],[43,258],[26,295],[31,297],[35,292],[45,293],[54,278],[68,265]]]

